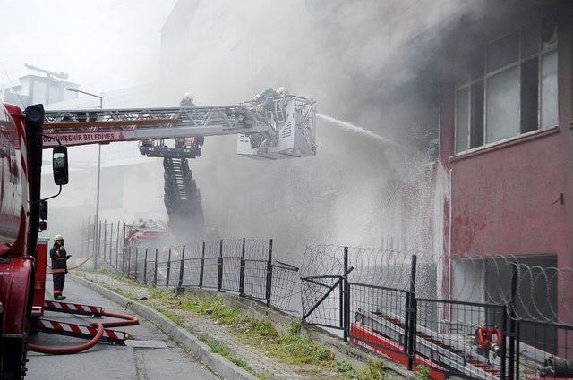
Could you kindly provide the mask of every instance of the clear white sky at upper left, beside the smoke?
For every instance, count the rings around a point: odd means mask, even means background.
[[[96,93],[156,80],[175,1],[0,0],[0,87],[37,73],[24,63],[67,72]]]

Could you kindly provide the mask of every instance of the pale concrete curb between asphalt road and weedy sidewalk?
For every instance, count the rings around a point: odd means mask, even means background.
[[[133,312],[140,317],[144,317],[154,325],[157,325],[158,328],[167,334],[174,342],[191,350],[195,356],[204,361],[218,376],[225,379],[257,380],[256,376],[236,366],[230,360],[218,353],[211,352],[210,347],[201,342],[198,337],[190,334],[183,327],[175,324],[175,322],[153,308],[145,306],[136,300],[130,300],[121,294],[117,294],[115,291],[110,291],[85,278],[74,274],[68,274],[68,276],[72,277],[73,281],[89,287],[92,291],[98,292],[108,300],[112,300],[126,309],[129,308],[133,310]]]

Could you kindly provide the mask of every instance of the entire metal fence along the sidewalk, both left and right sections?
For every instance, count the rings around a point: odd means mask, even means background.
[[[124,224],[99,225],[94,237],[88,224],[86,249],[141,283],[230,291],[286,311],[300,294],[306,323],[436,379],[573,377],[573,270],[553,258],[316,246],[299,271],[273,260],[272,240],[135,248]]]

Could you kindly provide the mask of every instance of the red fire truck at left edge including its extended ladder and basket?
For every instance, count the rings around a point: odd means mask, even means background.
[[[68,182],[66,147],[141,141],[146,155],[173,159],[177,152],[187,158],[197,156],[205,136],[236,134],[242,156],[314,156],[315,113],[312,99],[290,95],[264,105],[253,100],[235,106],[102,110],[45,111],[34,105],[22,111],[0,102],[0,377],[25,375],[32,315],[45,308],[43,298],[34,297],[35,290],[43,293],[45,282],[36,275],[46,260],[45,249],[38,254],[38,231],[46,229],[47,199]],[[175,150],[166,139],[175,139]],[[53,148],[54,180],[60,186],[49,198],[40,197],[44,148]],[[175,181],[182,198],[188,183]]]

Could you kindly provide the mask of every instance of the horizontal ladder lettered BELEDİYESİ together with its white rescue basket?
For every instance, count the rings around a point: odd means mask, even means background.
[[[46,111],[44,148],[55,147],[54,139],[75,146],[237,134],[237,151],[244,156],[314,156],[315,114],[314,100],[295,96],[273,99],[270,109],[248,102],[236,106]]]

